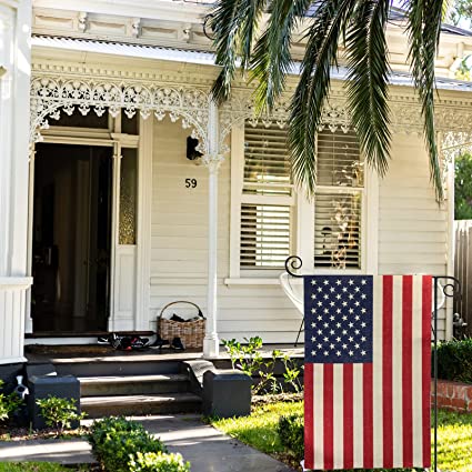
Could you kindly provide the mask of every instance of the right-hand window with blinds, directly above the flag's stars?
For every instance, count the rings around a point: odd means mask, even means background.
[[[320,131],[314,199],[314,267],[361,269],[363,162],[353,131]]]

